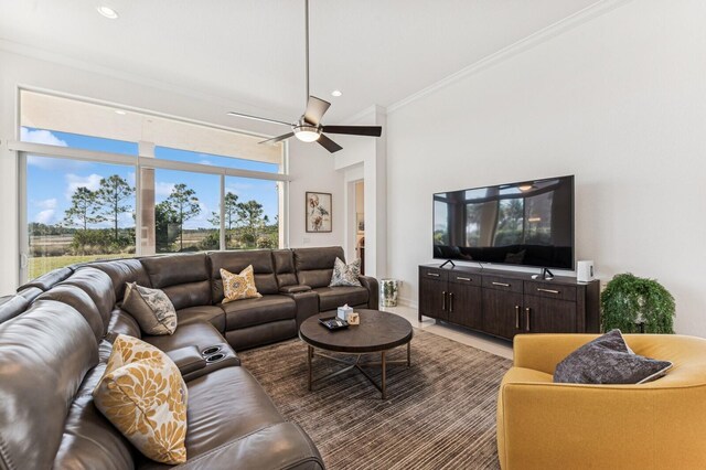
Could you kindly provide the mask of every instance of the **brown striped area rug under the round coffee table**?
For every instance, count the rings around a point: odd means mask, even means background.
[[[298,339],[238,355],[331,470],[499,468],[495,400],[506,359],[415,330],[411,367],[388,368],[383,402],[356,371],[308,392],[307,346]],[[340,366],[314,357],[314,377]]]

